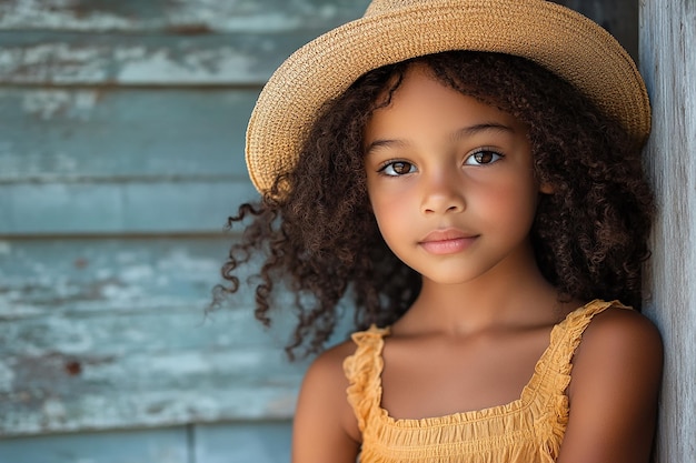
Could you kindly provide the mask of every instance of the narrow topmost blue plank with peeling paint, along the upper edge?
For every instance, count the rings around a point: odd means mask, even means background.
[[[362,14],[368,0],[3,0],[0,30],[125,32],[286,31],[330,28]]]

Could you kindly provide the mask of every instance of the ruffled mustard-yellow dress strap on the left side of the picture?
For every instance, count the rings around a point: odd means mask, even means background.
[[[370,413],[379,410],[381,401],[380,375],[384,368],[381,351],[384,338],[389,334],[389,328],[371,325],[367,331],[352,334],[357,349],[352,355],[344,361],[344,371],[348,379],[348,402],[358,420],[360,432]]]

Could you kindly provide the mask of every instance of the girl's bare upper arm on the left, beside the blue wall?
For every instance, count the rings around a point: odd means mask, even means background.
[[[342,368],[355,349],[352,342],[330,349],[307,371],[292,423],[292,463],[356,462],[360,434]]]

